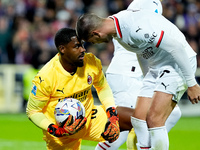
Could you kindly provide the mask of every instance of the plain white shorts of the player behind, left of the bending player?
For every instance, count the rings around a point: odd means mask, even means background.
[[[107,73],[106,79],[112,89],[115,104],[135,108],[143,77]]]

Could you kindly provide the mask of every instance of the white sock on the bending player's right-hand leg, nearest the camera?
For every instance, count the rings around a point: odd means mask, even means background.
[[[165,126],[149,128],[151,149],[169,150],[168,132]]]

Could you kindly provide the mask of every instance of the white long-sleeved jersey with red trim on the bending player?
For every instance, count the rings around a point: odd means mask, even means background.
[[[155,69],[178,65],[187,85],[196,84],[188,59],[196,53],[179,29],[165,17],[148,10],[124,10],[111,18],[117,31],[115,39],[125,49],[137,53],[140,61]]]

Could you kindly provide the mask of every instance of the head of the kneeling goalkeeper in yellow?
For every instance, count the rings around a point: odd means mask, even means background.
[[[60,53],[60,62],[65,69],[83,66],[85,48],[74,29],[62,28],[58,30],[54,42]]]

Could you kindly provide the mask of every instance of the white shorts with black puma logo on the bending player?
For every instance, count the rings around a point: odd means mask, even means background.
[[[192,69],[196,71],[196,56],[190,59]],[[155,91],[172,94],[173,101],[179,102],[187,84],[179,68],[163,66],[159,69],[149,69],[143,79],[143,86],[138,96],[152,97]]]

